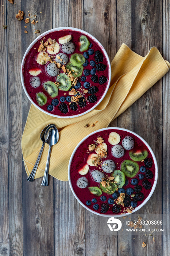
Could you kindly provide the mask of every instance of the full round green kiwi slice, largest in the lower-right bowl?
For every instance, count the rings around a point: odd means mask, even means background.
[[[132,178],[138,173],[139,165],[132,160],[124,160],[121,163],[121,171],[125,174],[125,176]]]

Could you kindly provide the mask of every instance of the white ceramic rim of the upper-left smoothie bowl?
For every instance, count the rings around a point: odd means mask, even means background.
[[[72,116],[57,116],[57,115],[55,115],[55,114],[51,114],[51,113],[49,113],[49,112],[47,112],[47,111],[41,109],[38,105],[35,104],[34,101],[32,101],[30,95],[27,93],[27,90],[26,90],[26,88],[25,88],[25,86],[24,86],[23,67],[24,67],[24,63],[25,63],[27,54],[29,53],[30,49],[32,48],[32,46],[33,46],[40,38],[46,36],[46,35],[49,34],[50,32],[59,31],[59,30],[74,30],[74,31],[79,31],[79,32],[81,32],[81,33],[83,33],[83,34],[85,34],[85,35],[88,35],[88,36],[89,36],[90,38],[92,38],[92,39],[96,42],[96,44],[98,44],[98,45],[100,46],[100,48],[103,50],[103,53],[104,53],[104,55],[105,55],[105,58],[107,59],[107,62],[108,62],[108,74],[109,74],[109,76],[108,76],[108,83],[107,83],[107,86],[106,86],[106,89],[105,89],[105,92],[104,92],[103,96],[100,98],[100,100],[99,100],[92,108],[88,109],[88,110],[87,110],[86,112],[84,112],[84,113],[77,114],[77,115],[74,115],[74,116],[73,116],[73,115],[72,115]],[[107,94],[107,91],[108,91],[108,89],[109,89],[110,82],[111,82],[111,63],[110,63],[108,54],[107,54],[107,52],[105,51],[103,45],[101,45],[101,43],[100,43],[95,37],[93,37],[93,35],[89,34],[88,32],[86,32],[86,31],[84,31],[84,30],[76,29],[76,28],[74,28],[74,27],[58,27],[58,28],[55,28],[55,29],[48,30],[48,31],[46,31],[45,33],[39,35],[39,36],[30,44],[30,46],[28,46],[28,48],[27,48],[27,50],[26,50],[26,52],[25,52],[25,54],[24,54],[24,57],[23,57],[23,59],[22,59],[20,75],[21,75],[21,82],[22,82],[22,86],[23,86],[24,92],[26,93],[28,99],[31,101],[31,103],[32,103],[36,108],[38,108],[39,110],[41,110],[43,113],[48,114],[49,116],[59,117],[59,118],[73,118],[73,117],[82,116],[82,115],[84,115],[84,114],[90,112],[92,109],[96,108],[96,106],[97,106],[98,104],[100,104],[100,102],[104,99],[104,97],[105,97],[105,95]]]

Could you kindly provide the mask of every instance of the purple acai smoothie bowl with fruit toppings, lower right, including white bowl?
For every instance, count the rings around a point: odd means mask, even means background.
[[[143,138],[127,129],[109,127],[78,143],[68,177],[74,196],[87,210],[104,217],[123,217],[150,199],[158,166]]]

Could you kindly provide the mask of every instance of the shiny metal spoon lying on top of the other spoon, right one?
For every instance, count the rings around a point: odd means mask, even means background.
[[[49,144],[49,151],[47,156],[47,162],[46,162],[46,169],[44,172],[44,177],[42,181],[42,186],[48,186],[48,174],[49,174],[49,164],[50,164],[50,155],[51,155],[51,148],[53,145],[55,145],[59,140],[59,132],[57,130],[57,127],[53,124],[50,125],[46,131],[45,131],[45,142]]]

